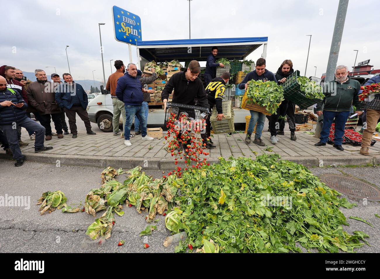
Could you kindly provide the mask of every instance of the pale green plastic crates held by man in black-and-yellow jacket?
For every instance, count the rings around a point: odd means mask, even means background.
[[[212,109],[210,121],[214,134],[232,133],[235,131],[232,101],[223,101],[222,108],[224,117],[219,121],[217,120],[218,112],[216,107],[214,106]]]

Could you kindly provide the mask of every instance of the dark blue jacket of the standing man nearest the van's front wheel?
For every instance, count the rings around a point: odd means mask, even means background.
[[[55,92],[55,102],[61,108],[71,109],[74,104],[74,98],[71,98],[74,94],[76,94],[81,102],[81,105],[84,109],[87,108],[87,104],[89,103],[89,99],[87,93],[84,91],[82,85],[73,82],[72,85],[67,82],[62,82],[59,86],[54,88]]]

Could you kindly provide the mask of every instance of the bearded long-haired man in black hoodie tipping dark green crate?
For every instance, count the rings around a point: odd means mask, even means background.
[[[293,63],[291,60],[287,59],[284,60],[280,66],[280,68],[277,70],[277,72],[274,74],[277,83],[283,84],[285,80],[294,73],[293,69]],[[269,121],[270,125],[269,128],[271,129],[271,137],[275,136],[275,138],[278,141],[277,135],[284,135],[284,128],[285,128],[285,115],[287,116],[288,123],[289,123],[289,129],[290,129],[290,139],[291,140],[297,140],[296,138],[296,119],[294,117],[294,110],[296,108],[296,105],[289,101],[288,99],[285,99],[281,102],[279,108],[277,109],[277,114],[273,114],[271,116],[271,121]]]

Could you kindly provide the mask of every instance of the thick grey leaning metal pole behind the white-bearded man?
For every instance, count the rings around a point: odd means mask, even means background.
[[[339,0],[338,11],[336,13],[334,33],[332,34],[331,47],[329,60],[327,63],[326,76],[325,76],[325,85],[334,79],[336,63],[338,61],[339,49],[340,49],[340,41],[342,40],[342,34],[344,29],[344,22],[346,20],[348,7],[348,0]],[[317,126],[315,128],[315,137],[320,137],[321,133],[321,125],[319,124],[319,120],[323,118],[323,115],[318,117]]]

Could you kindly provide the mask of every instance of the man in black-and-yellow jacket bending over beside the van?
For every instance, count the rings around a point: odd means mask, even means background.
[[[226,83],[228,82],[229,79],[230,79],[230,73],[224,72],[221,77],[215,77],[215,79],[212,79],[211,82],[206,86],[207,100],[209,102],[210,109],[212,109],[214,106],[216,107],[216,110],[218,112],[218,115],[217,115],[218,120],[222,120],[224,116],[222,101],[223,101],[224,91],[226,90]],[[201,134],[201,137],[203,139],[203,142],[206,142],[206,148],[215,149],[216,146],[213,145],[213,142],[210,138],[211,136],[210,117],[211,117],[211,114],[207,116],[206,132],[204,134]],[[207,139],[209,139],[208,142],[207,142]]]

